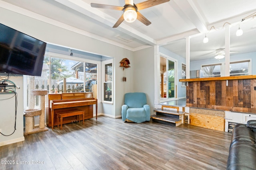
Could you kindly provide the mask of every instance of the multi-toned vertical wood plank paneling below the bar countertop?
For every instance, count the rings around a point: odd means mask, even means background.
[[[186,106],[256,113],[256,79],[188,82]]]

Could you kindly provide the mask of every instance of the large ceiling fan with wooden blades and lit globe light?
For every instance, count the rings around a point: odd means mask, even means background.
[[[170,0],[147,0],[144,2],[140,2],[138,4],[134,4],[133,0],[125,0],[125,5],[123,7],[122,6],[104,5],[104,4],[95,4],[95,3],[91,3],[91,7],[123,11],[124,14],[122,14],[122,16],[118,19],[118,21],[113,26],[113,28],[116,28],[124,20],[127,22],[133,22],[136,19],[138,19],[145,25],[150,25],[151,22],[148,19],[146,19],[142,14],[140,14],[139,10],[143,10],[145,8],[156,6],[156,5],[162,4],[164,2],[169,2],[169,1]]]

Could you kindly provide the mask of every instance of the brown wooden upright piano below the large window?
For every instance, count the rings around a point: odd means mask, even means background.
[[[48,127],[57,125],[57,116],[55,113],[62,111],[72,111],[74,109],[83,110],[84,119],[92,118],[94,104],[96,105],[97,120],[98,102],[96,98],[93,98],[92,92],[48,94],[48,99],[49,110],[46,115],[46,119],[48,120],[46,123]],[[76,116],[65,117],[63,119],[63,124],[72,123],[74,121],[76,121]],[[52,122],[54,122],[53,125]]]

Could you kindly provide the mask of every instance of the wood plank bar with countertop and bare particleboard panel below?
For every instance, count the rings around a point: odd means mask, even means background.
[[[195,108],[191,109],[194,110],[190,116],[192,124],[203,121],[204,127],[223,124],[220,123],[220,119],[224,121],[223,115],[214,115],[216,111],[256,113],[256,75],[190,78],[180,82],[186,82],[186,106]],[[203,115],[202,109],[211,109],[212,115]]]

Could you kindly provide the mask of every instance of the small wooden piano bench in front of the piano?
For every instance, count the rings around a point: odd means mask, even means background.
[[[56,115],[57,115],[57,127],[59,127],[59,118],[60,118],[60,129],[61,130],[62,130],[63,117],[78,116],[78,122],[80,122],[80,115],[82,115],[83,116],[83,124],[84,124],[84,111],[83,110],[62,111],[62,112],[57,112]],[[54,123],[54,122],[52,122],[52,123]]]

